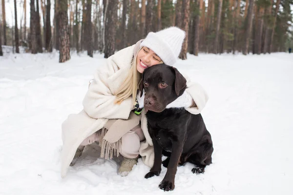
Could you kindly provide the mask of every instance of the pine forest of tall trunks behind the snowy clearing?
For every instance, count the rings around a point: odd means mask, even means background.
[[[1,0],[0,45],[33,54],[95,52],[105,58],[150,31],[178,26],[187,53],[244,55],[293,47],[293,0]],[[0,47],[0,55],[3,55]]]

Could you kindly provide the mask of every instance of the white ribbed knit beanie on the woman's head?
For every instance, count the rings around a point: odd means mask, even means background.
[[[150,32],[141,43],[154,51],[165,64],[174,65],[182,48],[185,32],[178,27],[165,28],[156,33]]]

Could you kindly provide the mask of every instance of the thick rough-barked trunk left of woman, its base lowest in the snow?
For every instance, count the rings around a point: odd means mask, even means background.
[[[59,18],[59,62],[65,62],[70,59],[70,40],[67,16],[67,0],[58,0],[58,18]]]

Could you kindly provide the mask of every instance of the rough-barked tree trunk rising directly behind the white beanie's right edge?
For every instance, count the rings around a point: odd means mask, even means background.
[[[186,33],[183,45],[182,45],[182,50],[179,55],[180,59],[187,59],[187,49],[188,49],[188,23],[189,23],[189,12],[190,12],[190,0],[183,0],[182,3],[183,7],[183,12],[184,13],[184,18],[183,18],[183,30]]]

